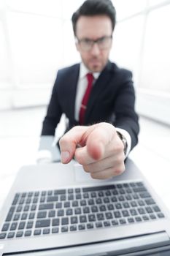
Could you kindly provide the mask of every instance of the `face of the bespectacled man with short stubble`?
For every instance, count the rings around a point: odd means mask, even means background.
[[[77,50],[80,52],[82,62],[92,72],[101,72],[107,64],[109,51],[112,47],[112,22],[106,15],[80,16],[76,26]],[[107,37],[107,47],[100,47],[103,42],[93,43],[90,50],[82,46],[89,40],[97,40]]]

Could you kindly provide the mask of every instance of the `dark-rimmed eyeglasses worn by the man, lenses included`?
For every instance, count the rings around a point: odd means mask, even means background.
[[[112,36],[100,37],[96,40],[92,40],[92,39],[88,39],[88,38],[85,38],[85,39],[77,38],[77,42],[80,45],[80,48],[85,51],[91,50],[95,43],[98,45],[98,48],[100,50],[104,50],[104,49],[109,48],[109,46],[112,42]]]

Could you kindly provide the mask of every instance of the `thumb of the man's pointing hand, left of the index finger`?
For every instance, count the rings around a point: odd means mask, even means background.
[[[61,162],[69,163],[74,157],[77,146],[82,142],[87,127],[74,127],[59,140],[61,149]]]

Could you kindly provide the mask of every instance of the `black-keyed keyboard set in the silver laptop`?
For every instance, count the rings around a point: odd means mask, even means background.
[[[142,182],[15,194],[0,239],[80,232],[164,218]]]

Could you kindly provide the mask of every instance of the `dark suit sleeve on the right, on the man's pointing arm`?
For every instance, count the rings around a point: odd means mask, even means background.
[[[131,136],[131,149],[138,142],[139,123],[135,112],[135,92],[132,73],[124,70],[122,83],[115,99],[115,127],[125,129]]]

